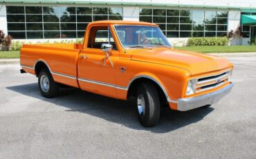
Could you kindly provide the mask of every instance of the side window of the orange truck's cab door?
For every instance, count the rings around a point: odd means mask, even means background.
[[[108,27],[91,28],[88,48],[100,49],[102,44],[108,43],[113,45],[113,50],[118,50],[116,48],[116,43],[113,39],[112,33],[108,30]]]

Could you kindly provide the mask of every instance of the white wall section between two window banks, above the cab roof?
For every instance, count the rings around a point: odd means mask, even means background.
[[[123,7],[122,13],[125,21],[139,21],[140,9],[138,7]]]

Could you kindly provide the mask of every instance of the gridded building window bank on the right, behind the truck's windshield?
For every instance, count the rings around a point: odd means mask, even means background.
[[[140,21],[158,24],[166,37],[225,36],[228,12],[140,8]]]

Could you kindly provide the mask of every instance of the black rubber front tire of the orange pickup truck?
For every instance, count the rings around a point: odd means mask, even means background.
[[[142,97],[144,100],[144,113],[139,110],[139,105],[141,104]],[[136,92],[136,106],[138,113],[138,120],[144,127],[152,127],[157,124],[160,118],[161,104],[159,100],[158,91],[154,84],[151,83],[141,83],[138,86]]]

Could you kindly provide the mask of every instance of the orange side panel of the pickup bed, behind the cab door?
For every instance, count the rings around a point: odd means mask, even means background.
[[[67,44],[68,45],[68,44]],[[73,45],[73,44],[69,44]],[[77,84],[77,55],[80,50],[57,48],[53,45],[24,45],[21,49],[21,67],[35,74],[37,62],[44,62],[51,71],[55,82],[79,87]]]

